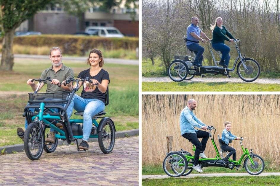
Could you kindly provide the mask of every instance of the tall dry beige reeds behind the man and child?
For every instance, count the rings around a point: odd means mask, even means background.
[[[244,137],[244,147],[272,164],[279,164],[280,95],[142,95],[142,165],[162,164],[167,153],[167,135],[173,136],[173,151],[191,151],[192,144],[180,135],[179,126],[180,112],[190,98],[198,103],[196,116],[217,129],[214,139],[218,149],[217,134],[221,136],[224,121],[231,121],[231,131]],[[239,141],[230,146],[236,149],[239,159]],[[215,157],[210,138],[205,154]]]

